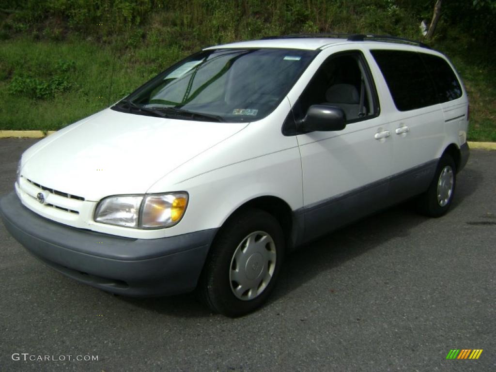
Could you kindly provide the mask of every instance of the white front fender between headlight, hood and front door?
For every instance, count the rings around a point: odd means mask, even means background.
[[[298,143],[296,137],[281,133],[289,110],[284,100],[271,115],[250,123],[242,135],[219,143],[148,189],[189,192],[186,214],[171,228],[175,234],[188,232],[190,226],[219,227],[239,206],[258,196],[277,196],[293,210],[303,206]]]

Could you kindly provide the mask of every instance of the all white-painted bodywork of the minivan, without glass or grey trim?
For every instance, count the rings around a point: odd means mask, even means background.
[[[450,115],[466,113],[465,91],[459,100],[400,113],[368,51],[416,48],[341,39],[275,39],[222,47],[323,50],[279,106],[256,122],[171,120],[106,109],[69,125],[23,154],[21,174],[42,186],[84,197],[80,201],[54,194],[47,199],[79,214],[39,204],[35,197],[40,189],[25,179],[16,185],[23,204],[69,226],[162,238],[218,228],[239,206],[258,196],[276,196],[297,210],[436,159],[450,143],[460,146],[466,140],[466,118],[444,123]],[[345,50],[360,50],[366,57],[380,115],[339,132],[284,136],[282,124],[321,62]],[[412,131],[397,136],[394,129],[400,123],[408,123]],[[389,130],[391,136],[374,139],[379,130]],[[170,191],[189,193],[183,219],[171,228],[139,230],[93,221],[98,201],[106,196]]]

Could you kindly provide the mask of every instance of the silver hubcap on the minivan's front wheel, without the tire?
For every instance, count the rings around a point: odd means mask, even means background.
[[[253,300],[267,288],[276,266],[274,240],[264,231],[255,231],[243,239],[231,259],[229,282],[234,295]]]

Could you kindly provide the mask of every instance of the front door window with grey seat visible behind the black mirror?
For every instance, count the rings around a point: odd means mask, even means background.
[[[313,75],[293,107],[296,121],[307,115],[311,105],[341,108],[346,122],[356,122],[378,113],[377,94],[369,67],[360,52],[330,56]]]

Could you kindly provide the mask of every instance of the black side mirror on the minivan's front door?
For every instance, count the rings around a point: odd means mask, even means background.
[[[343,130],[346,126],[344,111],[336,106],[312,105],[305,118],[297,124],[298,130]]]

